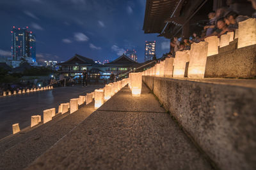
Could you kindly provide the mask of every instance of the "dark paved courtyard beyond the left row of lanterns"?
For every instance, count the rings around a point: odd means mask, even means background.
[[[56,108],[79,95],[86,95],[103,85],[88,87],[58,87],[43,92],[32,92],[17,96],[0,97],[0,139],[12,134],[12,124],[19,123],[20,129],[30,125],[31,115],[42,115],[43,110]]]

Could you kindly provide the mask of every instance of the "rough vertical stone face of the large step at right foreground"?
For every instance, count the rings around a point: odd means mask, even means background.
[[[143,81],[220,169],[256,169],[256,89],[153,76]]]

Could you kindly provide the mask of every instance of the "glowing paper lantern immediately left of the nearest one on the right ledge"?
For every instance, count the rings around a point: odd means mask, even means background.
[[[176,52],[173,66],[174,78],[184,78],[186,62],[189,62],[189,53],[189,50]]]

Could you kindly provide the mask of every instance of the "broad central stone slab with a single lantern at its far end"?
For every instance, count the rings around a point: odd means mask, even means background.
[[[107,101],[27,169],[212,169],[143,85]]]

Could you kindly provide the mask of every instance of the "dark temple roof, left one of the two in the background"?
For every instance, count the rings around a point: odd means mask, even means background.
[[[59,66],[100,66],[92,59],[78,55],[77,53],[71,59],[57,64]]]

